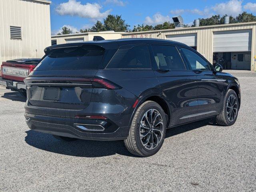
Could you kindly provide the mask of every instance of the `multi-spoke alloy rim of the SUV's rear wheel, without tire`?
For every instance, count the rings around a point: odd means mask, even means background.
[[[163,138],[163,118],[156,109],[147,110],[140,120],[140,141],[142,145],[153,150]]]

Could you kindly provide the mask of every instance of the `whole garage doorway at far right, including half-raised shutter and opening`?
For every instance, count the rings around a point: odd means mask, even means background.
[[[251,50],[252,30],[230,30],[213,33],[214,61],[222,62],[220,64],[225,65],[224,69],[250,70]]]

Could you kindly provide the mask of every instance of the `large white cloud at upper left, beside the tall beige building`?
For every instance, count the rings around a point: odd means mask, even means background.
[[[102,6],[98,3],[81,4],[76,0],[68,0],[66,3],[61,3],[57,6],[56,12],[60,15],[79,16],[90,19],[101,19],[108,16],[111,10],[100,12]]]

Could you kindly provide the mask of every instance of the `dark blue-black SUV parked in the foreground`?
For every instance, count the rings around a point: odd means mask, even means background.
[[[238,79],[178,42],[96,38],[45,54],[25,79],[25,117],[58,139],[124,140],[151,156],[168,128],[210,117],[230,126],[238,116]]]

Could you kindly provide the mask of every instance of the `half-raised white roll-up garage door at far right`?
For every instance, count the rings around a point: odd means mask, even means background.
[[[213,33],[213,52],[251,51],[252,30],[218,31]]]

